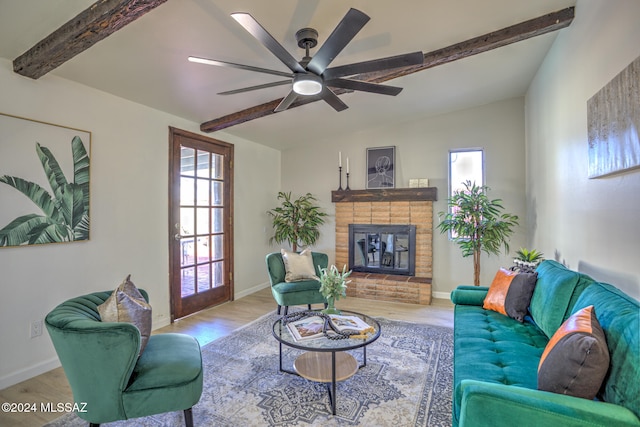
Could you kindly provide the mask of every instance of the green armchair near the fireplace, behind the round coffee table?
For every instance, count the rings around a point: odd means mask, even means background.
[[[312,252],[313,265],[316,275],[320,277],[320,269],[327,268],[329,257],[327,254]],[[311,304],[327,305],[327,300],[320,293],[320,282],[318,280],[303,280],[300,282],[285,282],[286,270],[282,254],[274,252],[266,257],[269,281],[271,282],[271,293],[278,303],[278,314],[284,307],[284,314],[289,311],[289,307],[306,304],[311,309]]]

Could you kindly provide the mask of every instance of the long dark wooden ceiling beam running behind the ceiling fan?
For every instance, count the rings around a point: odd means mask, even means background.
[[[418,71],[426,70],[438,65],[447,64],[460,59],[468,58],[479,53],[487,52],[512,43],[547,34],[568,27],[573,21],[575,8],[569,7],[557,12],[548,13],[538,18],[530,19],[501,30],[475,37],[470,40],[434,50],[424,54],[424,63],[404,68],[396,68],[387,71],[358,74],[352,78],[370,83],[382,83],[388,80],[403,77]],[[342,94],[345,90],[334,90],[336,94]],[[292,104],[289,108],[315,102],[317,99],[305,100]],[[281,99],[260,104],[237,113],[232,113],[217,119],[209,120],[200,125],[203,132],[215,132],[227,129],[261,117],[274,114],[275,107]]]

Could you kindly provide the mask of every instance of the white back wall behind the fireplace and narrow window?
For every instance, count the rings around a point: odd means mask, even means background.
[[[313,141],[282,153],[282,189],[295,194],[314,194],[331,214],[316,248],[335,259],[335,207],[331,190],[338,188],[338,151],[343,166],[350,160],[351,189],[365,188],[365,155],[368,147],[396,146],[396,188],[409,186],[409,178],[429,178],[438,188],[434,215],[447,210],[448,153],[452,148],[485,149],[486,180],[494,198],[504,200],[505,212],[520,216],[510,240],[510,256],[483,256],[481,282],[489,285],[501,265],[511,265],[513,252],[524,246],[525,161],[524,99],[517,98],[457,111],[400,125],[363,130],[338,139]],[[344,169],[343,169],[344,172]],[[343,187],[345,186],[343,176]],[[437,223],[437,218],[434,224]],[[459,248],[446,235],[434,231],[433,291],[448,298],[459,284],[473,284],[473,261],[462,258]]]

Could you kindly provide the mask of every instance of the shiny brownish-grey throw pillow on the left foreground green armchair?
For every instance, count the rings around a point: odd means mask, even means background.
[[[103,322],[134,324],[140,331],[140,352],[138,355],[141,355],[151,335],[152,312],[151,306],[130,279],[131,275],[128,275],[111,296],[98,306],[98,312]]]

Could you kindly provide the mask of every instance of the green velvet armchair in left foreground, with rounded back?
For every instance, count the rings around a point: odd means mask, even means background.
[[[70,299],[45,319],[74,401],[84,408],[77,415],[97,426],[184,411],[186,425],[192,426],[191,407],[202,394],[198,341],[184,334],[152,335],[138,357],[138,328],[100,321],[97,307],[109,295],[111,291]]]

